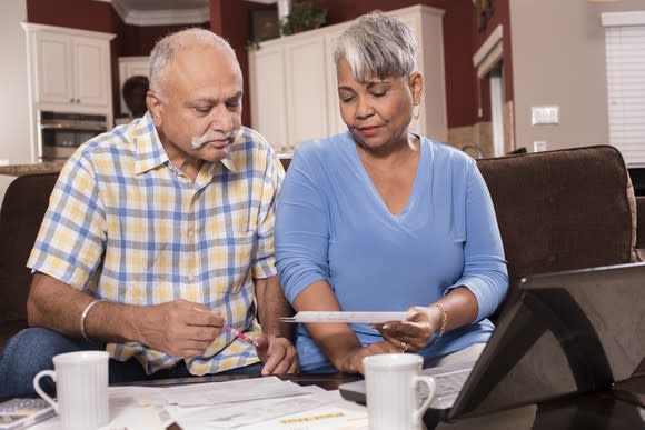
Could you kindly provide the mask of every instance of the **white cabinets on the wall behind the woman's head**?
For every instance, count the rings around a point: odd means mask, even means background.
[[[447,116],[440,9],[413,6],[388,12],[416,32],[424,74],[420,116],[410,129],[445,141]],[[338,110],[334,49],[349,22],[261,42],[249,51],[251,127],[278,152],[346,129]]]

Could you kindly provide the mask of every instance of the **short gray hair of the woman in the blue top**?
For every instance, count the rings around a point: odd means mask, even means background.
[[[380,11],[364,14],[338,38],[334,61],[345,59],[354,78],[409,77],[417,70],[417,38],[398,18]]]

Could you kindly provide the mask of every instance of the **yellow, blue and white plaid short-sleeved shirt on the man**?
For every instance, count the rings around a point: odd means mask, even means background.
[[[68,160],[28,267],[112,302],[204,303],[257,336],[252,279],[276,274],[274,212],[284,173],[265,139],[244,128],[229,156],[205,162],[194,182],[168,160],[148,113]],[[148,373],[180,360],[192,374],[258,361],[252,346],[226,331],[199,357],[139,342],[107,350],[120,361],[136,357]]]

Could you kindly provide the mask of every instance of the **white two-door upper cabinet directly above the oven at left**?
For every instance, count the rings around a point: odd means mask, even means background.
[[[54,111],[111,112],[110,40],[115,34],[33,23],[23,27],[33,103]]]

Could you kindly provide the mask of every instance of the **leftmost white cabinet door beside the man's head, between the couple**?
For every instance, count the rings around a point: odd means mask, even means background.
[[[287,152],[288,137],[285,56],[280,46],[262,47],[249,53],[251,127],[278,152]]]

